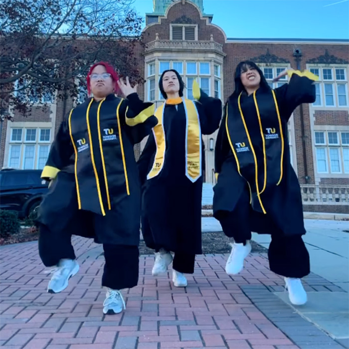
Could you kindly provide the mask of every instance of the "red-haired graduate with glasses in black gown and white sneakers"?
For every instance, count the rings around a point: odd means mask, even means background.
[[[157,118],[154,105],[107,63],[91,67],[87,84],[93,97],[64,118],[41,174],[51,182],[39,208],[39,253],[55,267],[47,291],[58,293],[79,270],[71,236],[103,244],[103,313],[116,314],[125,308],[120,290],[138,283],[141,183],[134,145]],[[116,97],[118,89],[126,99]]]

